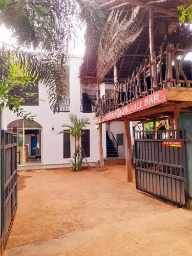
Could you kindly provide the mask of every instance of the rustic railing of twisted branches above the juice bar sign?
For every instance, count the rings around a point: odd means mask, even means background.
[[[114,89],[96,101],[96,116],[109,113],[167,87],[192,87],[190,63],[184,61],[191,49],[179,49],[179,45],[168,44],[166,51],[160,49],[157,56],[154,52],[145,59],[140,67],[134,70],[125,84],[118,83]],[[179,57],[181,55],[181,57]],[[172,66],[172,62],[174,65]]]

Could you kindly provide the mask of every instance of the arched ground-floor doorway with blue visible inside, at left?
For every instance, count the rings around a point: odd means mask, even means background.
[[[14,126],[17,127],[17,164],[42,164],[42,126],[36,121],[30,124],[27,120],[18,119],[9,123],[7,130]]]

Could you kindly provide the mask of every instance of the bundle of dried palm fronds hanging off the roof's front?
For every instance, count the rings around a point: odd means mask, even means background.
[[[145,10],[136,6],[112,10],[102,30],[97,55],[97,80],[102,81],[146,25]]]

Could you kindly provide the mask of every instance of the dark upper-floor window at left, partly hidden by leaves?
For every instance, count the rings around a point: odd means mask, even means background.
[[[28,93],[33,93],[33,97],[29,97],[27,95]],[[17,86],[13,89],[11,95],[20,96],[25,100],[25,102],[20,103],[20,105],[38,106],[38,82],[35,82],[34,84],[29,84],[29,86],[23,90],[20,90],[20,87]]]

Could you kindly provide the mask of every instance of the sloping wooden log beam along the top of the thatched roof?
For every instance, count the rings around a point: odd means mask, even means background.
[[[164,13],[171,17],[179,18],[179,13],[177,11],[165,9],[163,7],[157,7],[157,6],[154,6],[153,4],[147,4],[147,3],[141,2],[139,0],[124,0],[124,2],[130,3],[132,5],[137,5],[140,7],[148,8],[148,9],[153,8],[154,12],[160,12],[160,13]]]

